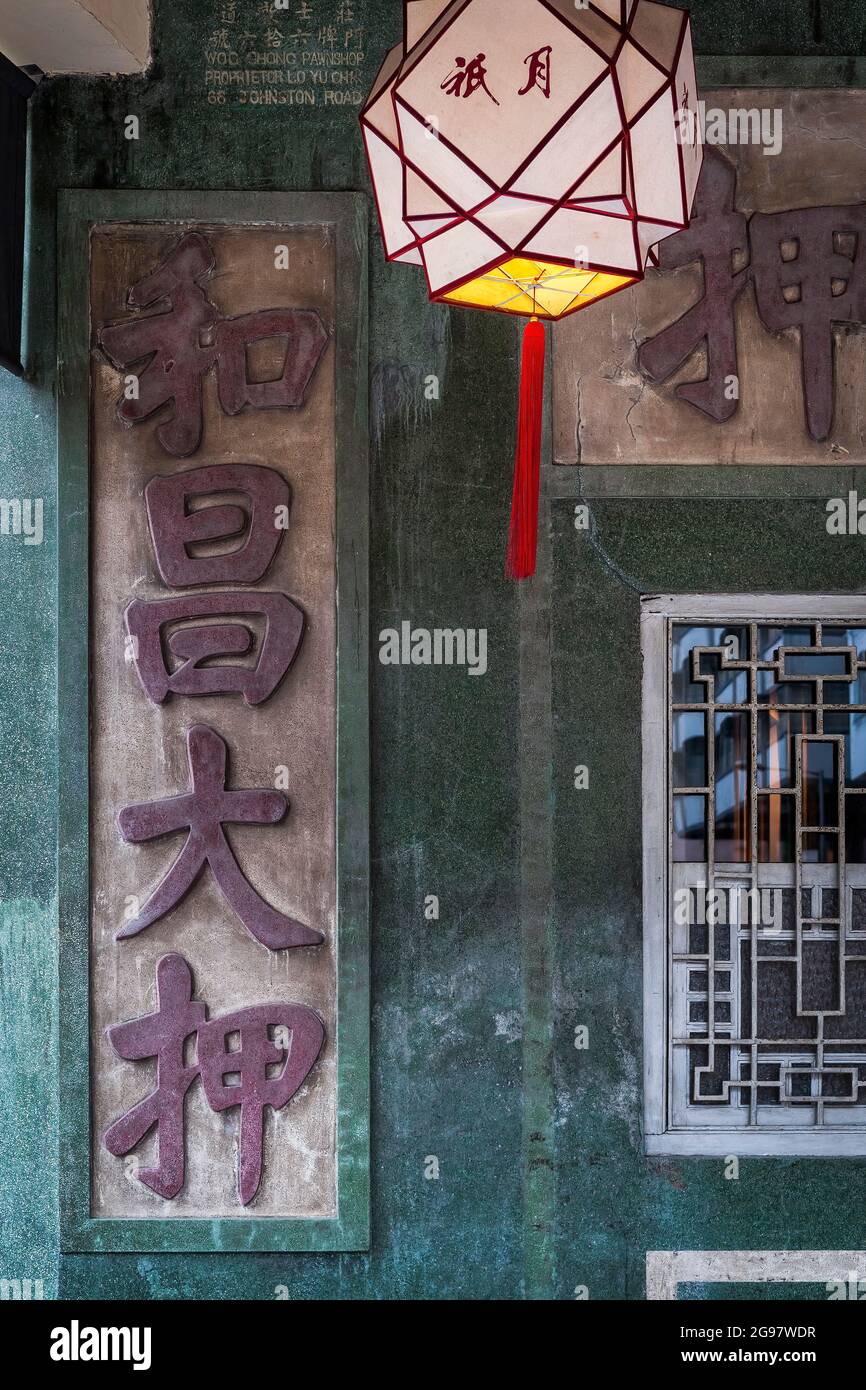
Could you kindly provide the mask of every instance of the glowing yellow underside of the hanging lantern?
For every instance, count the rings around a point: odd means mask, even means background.
[[[603,295],[634,285],[637,279],[637,275],[607,275],[592,268],[517,256],[484,275],[471,277],[439,297],[449,304],[466,304],[471,309],[562,318],[585,309]]]

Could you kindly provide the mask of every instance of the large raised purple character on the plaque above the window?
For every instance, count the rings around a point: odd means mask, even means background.
[[[770,332],[799,331],[805,416],[813,439],[826,439],[834,417],[835,324],[866,322],[866,203],[803,207],[790,213],[735,210],[737,175],[717,152],[706,156],[691,227],[664,240],[662,270],[702,263],[703,296],[681,318],[645,342],[641,368],[666,381],[706,343],[703,381],[677,395],[723,423],[740,393],[735,303],[753,286]]]

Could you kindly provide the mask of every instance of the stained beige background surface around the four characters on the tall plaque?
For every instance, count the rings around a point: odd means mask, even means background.
[[[317,309],[334,331],[334,245],[327,232],[199,227],[215,256],[207,286],[227,317],[254,309]],[[92,234],[95,327],[126,318],[129,285],[178,239],[177,227],[96,228]],[[288,270],[275,267],[288,246]],[[263,345],[265,346],[265,345]],[[279,352],[277,343],[268,350]],[[263,378],[277,363],[259,363]],[[95,1216],[332,1216],[336,1212],[336,607],[334,343],[299,410],[242,411],[204,381],[204,436],[179,461],[157,438],[161,417],[124,427],[117,418],[124,374],[92,356],[92,684],[90,684],[90,949]],[[153,705],[128,659],[124,610],[132,599],[167,598],[147,527],[143,489],[156,475],[222,463],[277,470],[292,488],[291,525],[265,577],[247,592],[288,594],[306,616],[300,651],[275,695],[250,709],[240,695],[177,696]],[[217,546],[210,546],[215,549]],[[222,585],[227,587],[227,585]],[[190,591],[188,591],[190,592]],[[200,592],[195,587],[192,592]],[[249,664],[249,659],[247,659]],[[285,785],[278,826],[232,826],[243,873],[278,910],[314,927],[321,947],[271,952],[222,897],[210,869],[182,902],[136,937],[115,941],[129,903],[145,903],[182,847],[182,837],[122,841],[122,806],[182,795],[186,733],[207,724],[229,749],[229,787]],[[278,769],[288,770],[288,785]],[[135,912],[132,912],[135,915]],[[325,1023],[325,1048],[309,1081],[282,1111],[265,1113],[263,1180],[249,1208],[238,1201],[238,1111],[214,1115],[196,1083],[186,1099],[186,1184],[164,1201],[135,1169],[157,1152],[156,1131],[124,1161],[101,1136],[147,1094],[156,1063],[121,1061],[106,1030],[156,1008],[156,966],[178,951],[192,966],[209,1016],[274,1001],[306,1004]]]

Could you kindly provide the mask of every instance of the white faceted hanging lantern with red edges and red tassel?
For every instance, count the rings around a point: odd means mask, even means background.
[[[644,278],[702,147],[688,14],[655,0],[406,0],[361,113],[389,260],[521,314],[507,573],[535,571],[545,320]]]

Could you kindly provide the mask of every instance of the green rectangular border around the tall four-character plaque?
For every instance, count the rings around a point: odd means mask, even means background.
[[[95,224],[327,225],[336,253],[336,1197],[332,1219],[95,1219],[89,1086],[89,238]],[[60,1248],[370,1248],[367,200],[359,193],[61,192],[58,197]]]

